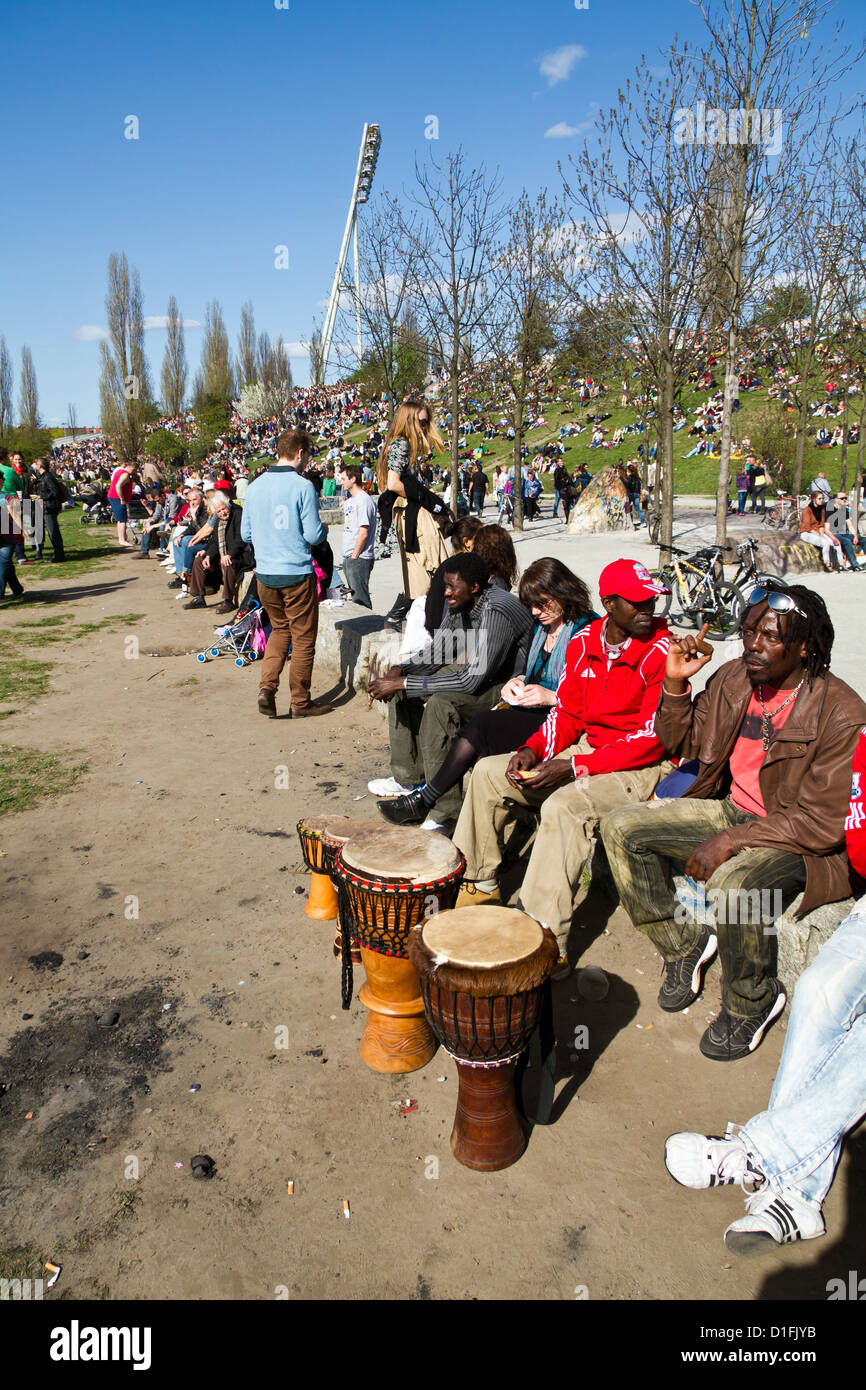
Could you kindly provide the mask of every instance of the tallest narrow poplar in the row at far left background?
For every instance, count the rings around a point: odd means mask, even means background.
[[[133,460],[153,413],[153,392],[145,356],[142,285],[125,253],[108,257],[106,314],[108,338],[99,345],[101,427],[118,457]]]

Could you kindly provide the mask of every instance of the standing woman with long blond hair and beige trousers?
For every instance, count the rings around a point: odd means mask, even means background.
[[[448,516],[448,507],[418,477],[418,459],[443,448],[427,402],[405,400],[398,406],[378,461],[379,541],[393,525],[403,567],[403,592],[385,619],[392,627],[400,624],[413,599],[427,594],[432,575],[448,559],[445,535],[435,520],[436,514]]]

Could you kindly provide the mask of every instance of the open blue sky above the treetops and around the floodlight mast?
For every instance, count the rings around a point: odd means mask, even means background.
[[[862,29],[855,0],[838,17]],[[174,293],[202,322],[215,297],[234,348],[250,299],[259,331],[300,345],[322,317],[366,121],[382,131],[374,192],[457,145],[499,167],[507,195],[557,190],[594,110],[677,31],[699,32],[688,0],[6,0],[0,334],[15,374],[26,342],[43,420],[74,402],[79,424],[99,423],[113,250],[138,267],[147,316]],[[200,338],[188,329],[190,375]],[[149,331],[157,392],[164,341]],[[309,379],[306,353],[293,368]]]

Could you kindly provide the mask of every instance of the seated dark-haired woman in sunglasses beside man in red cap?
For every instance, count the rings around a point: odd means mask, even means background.
[[[420,824],[439,796],[455,787],[480,758],[514,752],[546,720],[550,706],[556,703],[569,642],[599,614],[591,607],[589,591],[582,580],[552,557],[535,560],[528,567],[518,594],[520,602],[535,619],[525,674],[506,681],[499,705],[477,714],[460,730],[431,781],[406,796],[377,802],[385,820],[398,826]]]

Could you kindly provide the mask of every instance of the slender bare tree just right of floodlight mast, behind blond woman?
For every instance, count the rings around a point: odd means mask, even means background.
[[[435,356],[448,370],[455,502],[460,378],[466,350],[484,321],[485,279],[503,215],[499,190],[499,177],[489,177],[484,167],[470,168],[459,149],[443,164],[432,154],[425,164],[416,161],[414,190],[393,204],[402,240],[411,252],[413,299]]]

